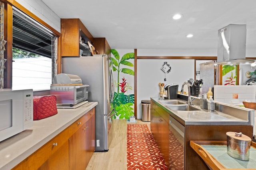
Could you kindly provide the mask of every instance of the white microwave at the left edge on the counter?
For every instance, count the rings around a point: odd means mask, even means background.
[[[0,141],[33,125],[33,90],[0,89]]]

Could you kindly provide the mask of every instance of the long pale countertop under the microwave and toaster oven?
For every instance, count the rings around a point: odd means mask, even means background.
[[[58,109],[56,115],[33,121],[30,129],[0,142],[0,170],[16,166],[97,105],[88,102],[78,108]]]

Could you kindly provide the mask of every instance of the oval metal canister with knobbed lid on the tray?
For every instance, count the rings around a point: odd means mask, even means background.
[[[239,160],[249,160],[252,139],[241,132],[227,132],[227,153]]]

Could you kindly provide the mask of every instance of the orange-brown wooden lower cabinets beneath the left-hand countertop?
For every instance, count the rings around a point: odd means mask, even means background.
[[[95,107],[12,170],[85,170],[95,150]]]

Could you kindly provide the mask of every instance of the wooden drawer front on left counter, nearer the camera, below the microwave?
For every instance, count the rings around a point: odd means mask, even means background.
[[[37,170],[54,152],[56,152],[65,142],[68,141],[69,131],[65,129],[48,143],[36,150],[28,158],[28,166],[30,170]]]

